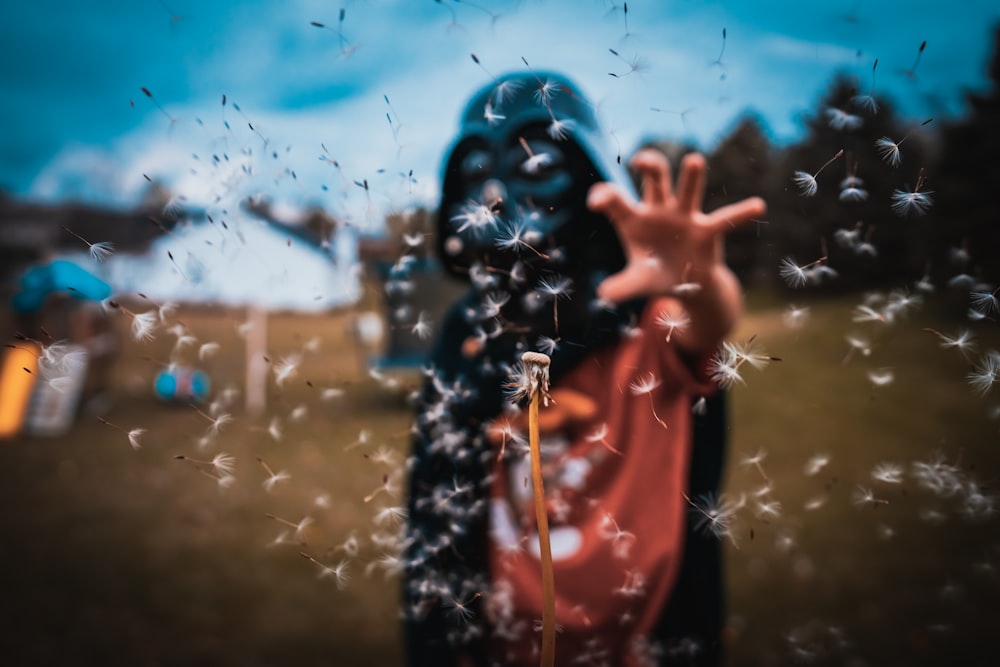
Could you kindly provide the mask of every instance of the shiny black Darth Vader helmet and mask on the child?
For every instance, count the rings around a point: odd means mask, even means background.
[[[594,183],[631,188],[602,146],[565,77],[514,74],[472,97],[446,159],[438,254],[482,295],[480,319],[550,334],[559,319],[586,324],[596,286],[624,266],[611,224],[586,205]]]

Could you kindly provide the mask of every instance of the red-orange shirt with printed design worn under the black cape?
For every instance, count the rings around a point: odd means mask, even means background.
[[[602,655],[611,664],[642,664],[642,638],[659,619],[677,576],[691,400],[716,386],[704,377],[705,363],[692,371],[653,324],[660,305],[647,307],[635,336],[594,354],[560,382],[596,402],[593,421],[542,441],[557,664],[589,664],[588,657]],[[648,381],[659,384],[637,393]],[[527,455],[497,472],[488,607],[494,655],[507,665],[536,665],[541,567]]]

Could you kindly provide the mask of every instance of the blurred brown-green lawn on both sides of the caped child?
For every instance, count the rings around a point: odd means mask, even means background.
[[[850,297],[800,304],[811,316],[790,329],[780,306],[751,297],[734,339],[756,335],[781,361],[747,369],[732,395],[726,497],[744,506],[727,547],[729,663],[993,664],[975,656],[1000,647],[1000,534],[995,516],[967,508],[975,489],[996,492],[996,399],[924,328],[969,326],[984,350],[1000,348],[995,324],[949,319],[934,302],[889,324],[852,322],[861,297]],[[242,386],[245,314],[176,318],[220,343],[216,388]],[[237,396],[211,441],[205,415],[153,398],[175,340],[161,332],[126,343],[114,426],[85,416],[66,437],[0,443],[5,663],[399,664],[397,583],[373,564],[383,550],[371,536],[392,530],[376,517],[400,502],[412,378],[371,378],[349,318],[272,316],[268,357],[301,355],[298,373],[281,387],[272,375],[259,418]],[[845,362],[847,334],[870,353]],[[894,380],[874,386],[869,371],[884,369]],[[115,427],[145,428],[142,448]],[[221,452],[236,460],[225,488],[210,466],[177,458]],[[758,453],[759,467],[745,461]],[[914,464],[935,460],[960,489],[919,483]],[[901,466],[900,483],[872,478],[884,463]],[[855,502],[859,485],[868,502]],[[346,562],[349,581],[310,558]]]

